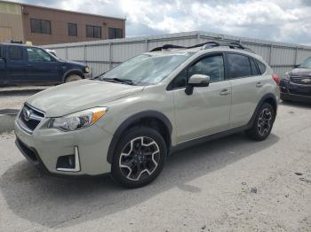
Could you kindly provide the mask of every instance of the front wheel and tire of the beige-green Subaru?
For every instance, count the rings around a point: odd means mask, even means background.
[[[117,144],[111,167],[112,177],[126,188],[145,186],[161,173],[166,157],[166,143],[155,129],[131,128]]]

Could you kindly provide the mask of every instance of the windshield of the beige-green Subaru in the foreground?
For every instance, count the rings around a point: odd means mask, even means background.
[[[153,85],[162,81],[192,53],[170,55],[140,55],[100,75],[101,81],[128,81],[133,85]]]

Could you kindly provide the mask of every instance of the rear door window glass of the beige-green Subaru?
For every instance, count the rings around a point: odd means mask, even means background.
[[[227,67],[230,78],[251,76],[251,64],[248,57],[240,54],[227,54]]]

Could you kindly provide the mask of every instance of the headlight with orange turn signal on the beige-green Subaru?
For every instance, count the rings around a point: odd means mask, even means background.
[[[107,107],[95,107],[60,118],[52,118],[48,128],[58,128],[64,131],[87,128],[99,120],[106,112],[108,112]]]

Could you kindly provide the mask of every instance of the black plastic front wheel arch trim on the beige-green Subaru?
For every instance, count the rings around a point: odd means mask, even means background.
[[[149,128],[155,128],[161,135],[167,145],[168,153],[171,150],[171,120],[169,120],[162,112],[145,111],[132,115],[130,118],[124,120],[124,122],[116,129],[113,139],[108,148],[107,161],[112,163],[116,145],[120,140],[124,132],[132,127],[147,126]]]

